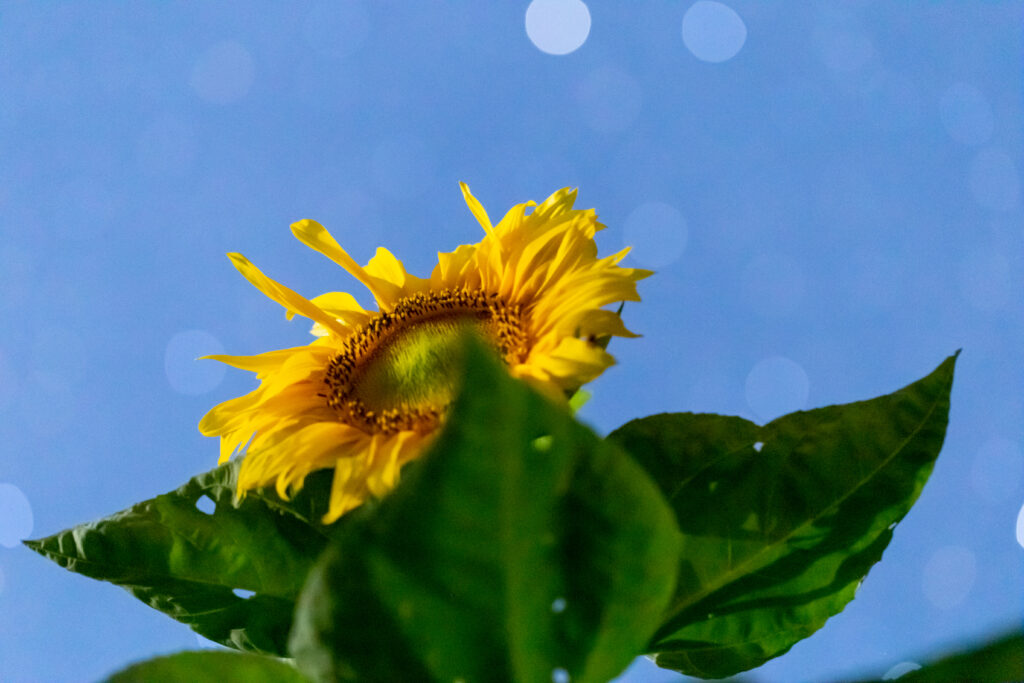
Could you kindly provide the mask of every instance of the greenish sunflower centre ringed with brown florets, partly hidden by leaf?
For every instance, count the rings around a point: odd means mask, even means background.
[[[370,433],[433,430],[459,390],[467,330],[506,362],[525,357],[518,306],[479,291],[415,294],[345,340],[328,367],[328,404]]]

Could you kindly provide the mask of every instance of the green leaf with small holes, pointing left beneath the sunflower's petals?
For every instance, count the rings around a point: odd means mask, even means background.
[[[60,566],[117,584],[215,642],[284,654],[295,599],[328,545],[309,492],[286,503],[256,493],[233,501],[239,463],[110,517],[26,545]],[[208,497],[207,514],[197,502]],[[312,517],[318,520],[318,517]],[[234,589],[252,591],[245,598]]]

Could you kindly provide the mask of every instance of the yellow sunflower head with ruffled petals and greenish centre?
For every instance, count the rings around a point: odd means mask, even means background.
[[[273,484],[288,497],[310,472],[334,468],[324,518],[330,523],[386,494],[444,420],[458,389],[463,328],[479,332],[514,377],[562,400],[614,362],[596,342],[636,336],[602,306],[639,301],[636,282],[650,272],[618,266],[628,249],[597,257],[594,233],[604,225],[593,209],[572,208],[575,191],[560,189],[540,206],[519,204],[492,225],[465,183],[462,190],[486,234],[438,254],[425,280],[384,248],[364,267],[319,223],[292,225],[300,242],[370,290],[377,311],[342,292],[305,299],[228,254],[288,317],[313,321],[316,336],[307,346],[259,355],[209,356],[260,380],[254,391],[214,407],[199,426],[220,436],[221,463],[246,452],[239,496]]]

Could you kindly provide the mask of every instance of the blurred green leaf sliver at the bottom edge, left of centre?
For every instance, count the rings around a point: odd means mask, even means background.
[[[147,659],[114,674],[105,683],[309,683],[287,661],[259,654],[178,652]]]

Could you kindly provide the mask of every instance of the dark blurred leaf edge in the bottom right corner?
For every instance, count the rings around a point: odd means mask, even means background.
[[[1015,631],[981,647],[949,654],[899,677],[900,683],[1024,681],[1024,633]]]

